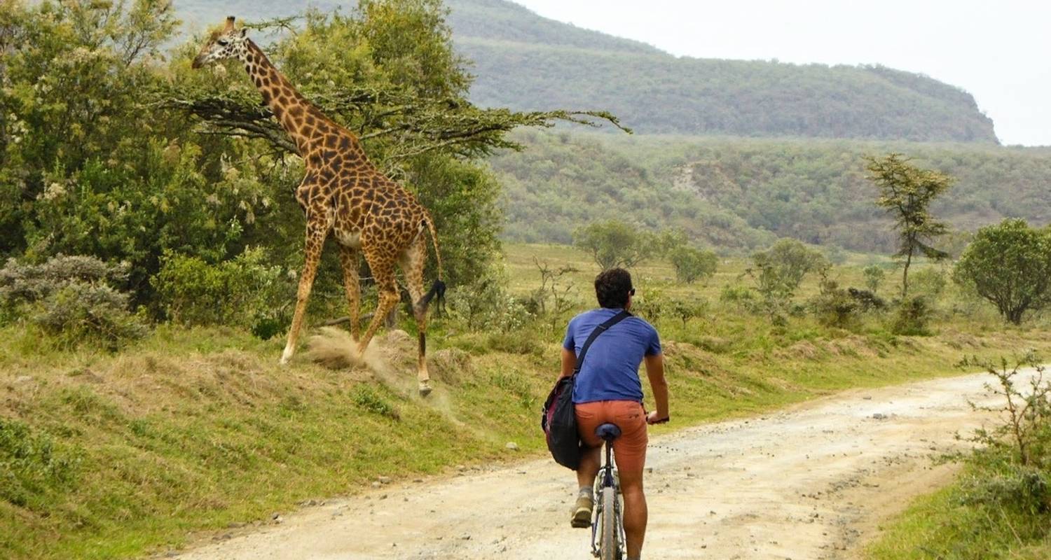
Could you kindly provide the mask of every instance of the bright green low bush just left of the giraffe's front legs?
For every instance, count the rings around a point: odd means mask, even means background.
[[[269,337],[287,325],[293,284],[263,249],[246,249],[214,265],[198,256],[165,254],[151,281],[162,313],[183,325],[227,325]]]

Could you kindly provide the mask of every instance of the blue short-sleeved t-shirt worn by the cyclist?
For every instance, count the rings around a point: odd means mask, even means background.
[[[562,348],[580,355],[595,327],[620,313],[619,309],[585,311],[570,320]],[[639,365],[644,356],[660,354],[657,329],[639,317],[627,317],[600,334],[584,356],[573,388],[573,402],[596,400],[642,401]]]

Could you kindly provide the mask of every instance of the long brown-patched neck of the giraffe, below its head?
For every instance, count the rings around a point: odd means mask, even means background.
[[[300,155],[306,155],[309,146],[317,138],[342,128],[307,101],[250,39],[247,40],[242,62],[248,77],[263,96],[263,103],[270,107],[282,128],[295,142]],[[354,151],[364,151],[359,149],[357,138],[349,136],[353,141]]]

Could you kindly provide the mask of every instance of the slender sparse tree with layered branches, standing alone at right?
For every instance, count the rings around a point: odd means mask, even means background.
[[[904,260],[904,299],[908,295],[909,266],[914,256],[923,255],[932,261],[949,256],[949,253],[933,246],[940,236],[948,232],[948,227],[930,213],[930,203],[949,190],[953,179],[945,173],[911,165],[910,160],[901,153],[866,160],[869,180],[880,189],[875,204],[891,214],[894,229],[898,230],[898,252],[894,257]]]

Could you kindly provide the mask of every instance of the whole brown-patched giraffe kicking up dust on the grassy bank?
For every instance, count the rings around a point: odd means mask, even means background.
[[[325,117],[292,87],[259,45],[248,38],[247,29],[234,27],[232,16],[226,18],[222,30],[211,35],[193,59],[192,66],[200,68],[225,59],[238,59],[244,64],[263,102],[295,143],[306,165],[306,175],[295,189],[295,199],[306,212],[306,261],[281,362],[288,364],[295,353],[322,247],[326,237],[332,234],[339,248],[344,289],[350,307],[350,330],[357,343],[358,357],[365,353],[384,317],[400,299],[394,278],[394,267],[400,266],[419,331],[418,389],[420,395],[427,396],[431,392],[427,372],[427,308],[433,298],[440,299],[446,290],[434,220],[411,192],[369,162],[353,132]],[[424,291],[424,265],[428,253],[425,234],[431,237],[438,265],[438,279],[427,292]],[[376,311],[362,337],[358,337],[359,253],[365,255],[379,291]]]

